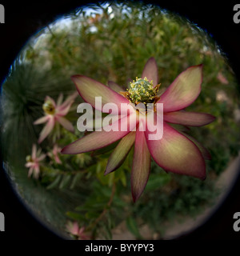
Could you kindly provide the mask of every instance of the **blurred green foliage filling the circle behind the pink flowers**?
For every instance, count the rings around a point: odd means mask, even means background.
[[[198,26],[182,17],[141,2],[90,5],[67,14],[63,22],[43,29],[22,50],[2,86],[2,154],[18,192],[46,222],[66,232],[66,221],[85,226],[92,238],[113,238],[121,224],[135,238],[144,238],[146,224],[164,236],[164,223],[192,217],[214,204],[218,176],[239,151],[239,93],[234,74],[221,50]],[[152,162],[142,197],[135,204],[130,194],[133,150],[124,164],[104,176],[107,159],[118,142],[94,153],[49,154],[38,180],[27,178],[26,155],[37,143],[42,126],[33,122],[43,114],[46,95],[57,100],[75,91],[70,76],[84,74],[106,84],[126,88],[129,79],[142,74],[150,57],[158,64],[160,92],[188,66],[204,64],[202,92],[188,110],[213,114],[216,121],[186,132],[210,150],[207,178],[166,174]],[[221,75],[223,78],[221,78]],[[66,118],[74,134],[55,126],[41,147],[49,153],[54,144],[63,147],[83,136],[76,128],[78,97]],[[40,147],[38,145],[38,147]],[[123,237],[124,238],[124,237]]]

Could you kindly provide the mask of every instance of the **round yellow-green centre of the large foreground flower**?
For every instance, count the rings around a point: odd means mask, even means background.
[[[158,87],[153,85],[153,81],[149,81],[147,78],[136,78],[133,82],[130,82],[130,90],[128,90],[128,97],[134,104],[139,102],[153,103],[158,92]]]

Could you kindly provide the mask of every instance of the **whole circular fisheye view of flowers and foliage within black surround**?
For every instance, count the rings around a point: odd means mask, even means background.
[[[64,239],[173,239],[238,177],[238,82],[209,34],[141,2],[38,31],[1,90],[6,175]]]

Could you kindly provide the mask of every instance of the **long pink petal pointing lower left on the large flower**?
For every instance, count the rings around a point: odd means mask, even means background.
[[[129,129],[126,129],[126,131],[121,131],[121,122],[123,125],[127,124],[130,118],[131,117],[126,116],[116,122],[113,122],[111,126],[103,127],[106,130],[109,128],[112,130],[94,131],[91,134],[87,134],[86,136],[79,138],[77,141],[64,147],[61,151],[62,154],[80,154],[92,150],[98,150],[118,141],[118,139],[126,136],[130,131],[134,130],[136,123],[132,123],[132,126],[130,126]],[[115,129],[119,131],[114,131]]]

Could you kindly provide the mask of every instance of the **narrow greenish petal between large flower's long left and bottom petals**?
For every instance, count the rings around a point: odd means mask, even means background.
[[[122,165],[122,162],[124,162],[127,154],[129,153],[131,147],[134,145],[135,141],[135,132],[130,132],[125,137],[121,139],[121,141],[118,143],[118,146],[115,147],[114,151],[110,155],[110,158],[108,159],[105,175],[109,174],[110,172],[118,169],[119,166]]]

